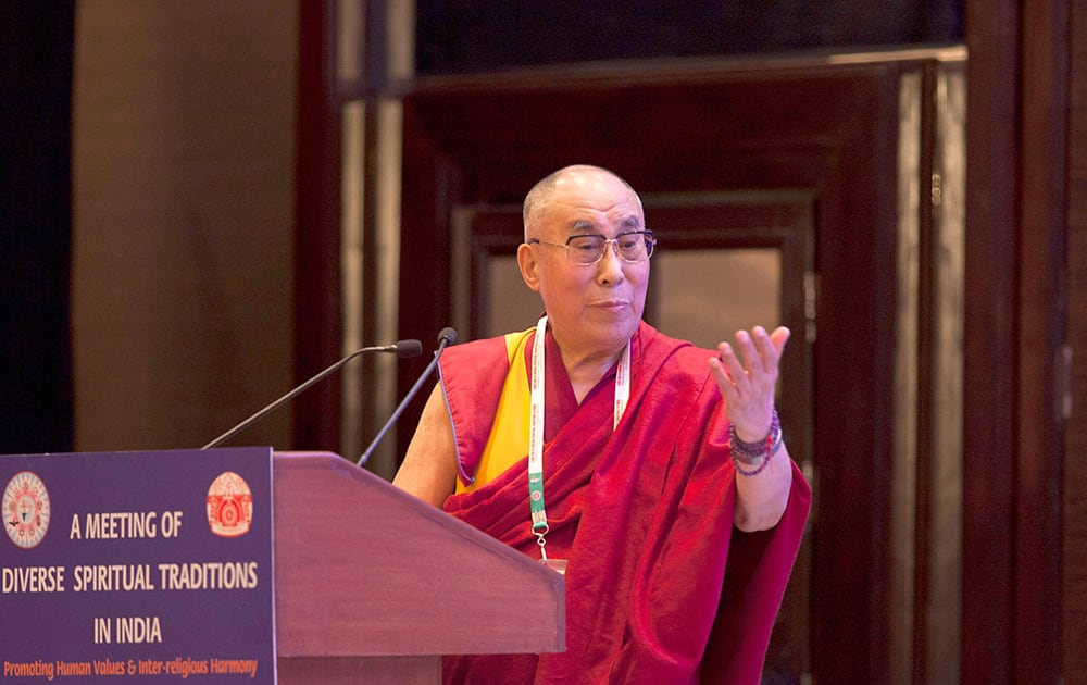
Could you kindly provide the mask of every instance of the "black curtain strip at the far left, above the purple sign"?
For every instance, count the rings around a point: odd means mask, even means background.
[[[72,1],[0,2],[0,453],[73,447]]]

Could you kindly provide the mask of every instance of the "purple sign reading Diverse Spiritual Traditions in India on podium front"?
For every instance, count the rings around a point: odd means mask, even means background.
[[[276,681],[271,448],[5,456],[0,488],[0,681]]]

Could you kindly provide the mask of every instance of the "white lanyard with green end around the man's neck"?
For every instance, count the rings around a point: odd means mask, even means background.
[[[533,534],[540,546],[540,561],[548,563],[544,546],[547,544],[547,511],[544,509],[544,336],[547,333],[547,316],[536,324],[536,339],[533,341],[533,372],[530,404],[528,414],[528,503],[533,512]],[[612,431],[626,411],[630,399],[630,341],[626,341],[623,354],[615,370],[615,407]],[[548,565],[552,565],[548,563]],[[552,565],[565,569],[565,562]]]

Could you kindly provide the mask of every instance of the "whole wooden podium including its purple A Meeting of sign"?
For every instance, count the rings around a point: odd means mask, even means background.
[[[333,453],[8,454],[0,494],[5,682],[438,683],[565,647],[563,576]]]

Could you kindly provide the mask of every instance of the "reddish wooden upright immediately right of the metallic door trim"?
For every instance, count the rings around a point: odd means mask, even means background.
[[[972,2],[966,23],[963,421],[964,683],[1011,682],[1014,621],[1015,197],[1019,10]]]

